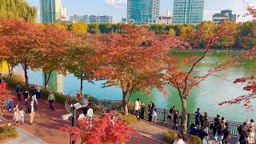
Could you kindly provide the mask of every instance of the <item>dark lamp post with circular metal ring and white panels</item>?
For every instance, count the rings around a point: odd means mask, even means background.
[[[74,105],[73,104],[70,105],[68,102],[68,98],[70,96],[70,93],[74,92],[74,91],[78,92],[77,98],[79,99],[79,101],[77,103],[75,103]],[[62,120],[67,120],[68,118],[71,117],[70,125],[77,126],[77,122],[76,122],[77,121],[77,118],[76,118],[77,110],[82,107],[86,107],[89,104],[89,101],[82,96],[82,91],[80,91],[80,90],[71,90],[70,93],[66,95],[66,102],[65,102],[65,109],[67,112],[70,112],[70,114],[62,115]],[[72,142],[70,142],[70,143],[75,144],[75,141],[72,140]]]

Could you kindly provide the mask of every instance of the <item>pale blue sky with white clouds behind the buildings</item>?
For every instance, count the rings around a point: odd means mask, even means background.
[[[160,0],[160,14],[165,15],[166,10],[172,13],[174,0]],[[39,8],[39,0],[27,0],[32,6]],[[66,7],[67,15],[110,15],[114,17],[114,22],[120,22],[121,18],[126,18],[127,0],[62,0],[62,6]],[[256,4],[255,0],[246,0],[252,5]],[[242,0],[205,0],[204,20],[211,20],[214,13],[223,9],[231,9],[234,14],[243,15],[246,13],[246,6]],[[39,9],[38,9],[39,10]],[[238,18],[238,22],[250,20],[247,18]]]

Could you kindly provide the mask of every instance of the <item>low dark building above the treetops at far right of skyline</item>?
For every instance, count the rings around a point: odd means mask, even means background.
[[[232,14],[232,10],[230,10],[230,9],[221,10],[221,13],[216,13],[213,15],[213,21],[216,25],[218,25],[219,22],[222,22],[226,19],[236,22],[236,17],[237,17],[237,15]]]

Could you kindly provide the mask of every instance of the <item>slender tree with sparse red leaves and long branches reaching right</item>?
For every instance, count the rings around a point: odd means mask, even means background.
[[[202,59],[206,58],[207,54],[209,54],[210,46],[217,42],[219,38],[225,38],[226,35],[235,33],[234,29],[230,29],[226,26],[226,24],[220,24],[218,29],[215,30],[214,34],[206,39],[202,34],[203,31],[194,31],[194,37],[201,41],[206,41],[206,47],[201,56],[186,58],[182,61],[182,63],[178,63],[178,58],[174,58],[171,55],[169,58],[166,58],[166,82],[170,84],[170,86],[174,87],[174,89],[178,90],[178,96],[182,102],[182,134],[186,134],[187,130],[186,99],[190,96],[191,90],[194,87],[199,86],[199,84],[210,75],[221,70],[225,70],[226,64],[231,62],[231,58],[228,58],[226,61],[219,62],[217,66],[208,70],[207,74],[200,75],[198,70],[195,70],[196,66],[202,62]],[[184,69],[184,66],[188,66],[189,69]]]

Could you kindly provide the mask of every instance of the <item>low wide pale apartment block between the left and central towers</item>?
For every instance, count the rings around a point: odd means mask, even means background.
[[[79,22],[79,21],[84,21],[87,24],[91,23],[113,23],[113,17],[108,16],[108,15],[83,15],[83,16],[70,16],[70,21],[71,22]]]

